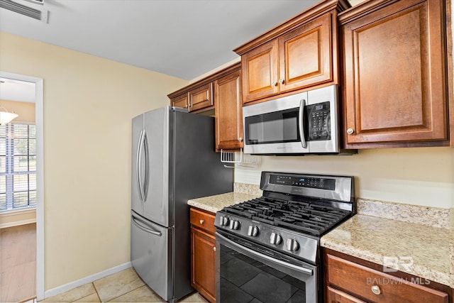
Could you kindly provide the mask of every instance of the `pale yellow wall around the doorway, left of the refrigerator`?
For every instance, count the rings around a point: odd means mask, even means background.
[[[44,79],[45,290],[128,262],[131,119],[187,81],[8,33],[0,54]]]

